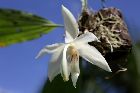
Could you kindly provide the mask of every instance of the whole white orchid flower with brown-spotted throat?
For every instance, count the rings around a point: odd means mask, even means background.
[[[48,65],[48,77],[52,81],[55,76],[61,73],[63,80],[68,81],[71,74],[73,86],[80,74],[79,56],[100,68],[111,72],[111,69],[101,53],[88,42],[98,41],[97,37],[86,32],[78,37],[79,30],[76,19],[72,13],[62,5],[62,13],[65,23],[65,43],[56,43],[44,47],[38,57],[51,53],[51,62]]]

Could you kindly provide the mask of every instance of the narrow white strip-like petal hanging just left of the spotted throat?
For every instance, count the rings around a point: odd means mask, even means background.
[[[63,77],[63,80],[64,81],[68,81],[69,80],[69,67],[68,67],[68,62],[67,62],[67,49],[70,45],[67,44],[65,47],[64,47],[64,50],[63,50],[63,56],[62,56],[62,62],[61,62],[61,75]]]

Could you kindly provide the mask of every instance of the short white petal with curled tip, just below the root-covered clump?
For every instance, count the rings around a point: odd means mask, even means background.
[[[91,32],[85,32],[75,39],[75,43],[88,43],[92,41],[98,41],[98,38]]]

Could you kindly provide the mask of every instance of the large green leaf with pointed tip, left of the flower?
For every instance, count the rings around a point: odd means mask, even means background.
[[[0,47],[39,38],[58,26],[30,13],[0,9]]]

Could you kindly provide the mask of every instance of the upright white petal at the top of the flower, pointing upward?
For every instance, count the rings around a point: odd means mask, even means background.
[[[62,14],[64,17],[65,31],[66,31],[66,43],[73,41],[79,34],[78,24],[72,13],[62,5]]]

